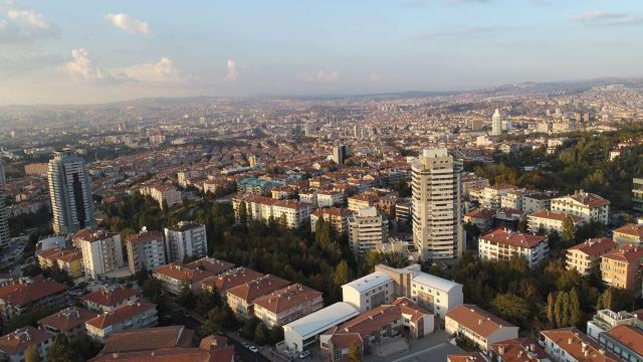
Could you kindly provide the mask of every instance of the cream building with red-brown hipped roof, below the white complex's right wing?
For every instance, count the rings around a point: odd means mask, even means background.
[[[458,305],[444,319],[447,333],[471,339],[484,352],[494,343],[518,338],[518,327],[473,304]]]

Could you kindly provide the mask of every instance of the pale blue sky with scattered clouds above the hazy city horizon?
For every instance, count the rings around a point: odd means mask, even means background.
[[[643,76],[642,0],[0,0],[0,104]]]

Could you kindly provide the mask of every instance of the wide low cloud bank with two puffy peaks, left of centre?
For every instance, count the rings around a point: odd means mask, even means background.
[[[120,70],[96,68],[84,49],[72,50],[71,58],[66,68],[71,78],[78,82],[111,85],[122,82],[182,84],[190,81],[190,77],[167,57],[161,57],[156,63],[136,64]]]

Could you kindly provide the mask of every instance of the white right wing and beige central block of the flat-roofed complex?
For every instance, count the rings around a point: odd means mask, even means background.
[[[462,284],[422,272],[419,264],[402,269],[379,264],[375,271],[384,272],[393,279],[395,296],[410,298],[437,318],[444,318],[446,312],[464,301]]]

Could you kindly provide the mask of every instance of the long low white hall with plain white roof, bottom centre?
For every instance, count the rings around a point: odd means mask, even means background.
[[[338,301],[284,325],[285,345],[291,351],[303,352],[316,343],[321,333],[358,315],[355,307]]]

